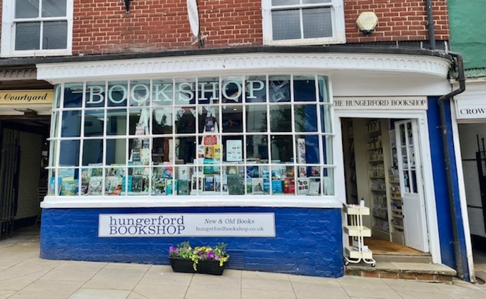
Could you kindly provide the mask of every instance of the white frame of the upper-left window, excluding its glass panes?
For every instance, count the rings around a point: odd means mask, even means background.
[[[15,1],[2,1],[2,26],[1,26],[1,57],[25,57],[25,56],[60,56],[72,54],[72,21],[73,0],[66,0],[66,19],[68,21],[68,39],[66,49],[49,50],[15,50]],[[58,18],[56,18],[58,19]],[[40,19],[39,19],[40,20]]]

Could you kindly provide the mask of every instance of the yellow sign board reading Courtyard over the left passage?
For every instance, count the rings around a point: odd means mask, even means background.
[[[4,90],[0,91],[0,105],[50,104],[54,98],[52,90]]]

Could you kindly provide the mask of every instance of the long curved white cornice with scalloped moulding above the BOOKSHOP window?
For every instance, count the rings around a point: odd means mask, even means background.
[[[355,53],[246,53],[37,64],[37,79],[72,80],[231,75],[248,73],[380,71],[446,78],[451,62],[436,56]]]

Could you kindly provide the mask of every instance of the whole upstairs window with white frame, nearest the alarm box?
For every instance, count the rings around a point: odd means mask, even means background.
[[[263,0],[267,45],[345,43],[342,0]]]

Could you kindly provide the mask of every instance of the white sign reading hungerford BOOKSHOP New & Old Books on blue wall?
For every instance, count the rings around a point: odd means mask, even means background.
[[[100,214],[98,237],[275,237],[274,213]]]

